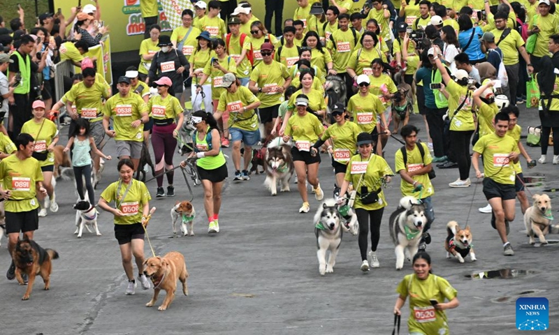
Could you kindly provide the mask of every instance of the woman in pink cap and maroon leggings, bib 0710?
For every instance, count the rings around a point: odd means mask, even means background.
[[[153,118],[154,126],[152,130],[152,146],[155,156],[155,174],[159,175],[164,169],[167,172],[167,196],[175,196],[173,187],[173,156],[177,147],[177,137],[184,115],[180,107],[179,99],[169,94],[169,89],[173,87],[173,82],[169,77],[161,77],[154,82],[157,85],[159,96],[152,96],[147,103],[147,110]],[[178,121],[175,121],[178,120]],[[164,161],[165,160],[165,161]],[[163,190],[163,175],[157,177],[157,198],[165,195]]]

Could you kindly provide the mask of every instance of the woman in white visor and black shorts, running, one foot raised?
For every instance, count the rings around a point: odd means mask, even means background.
[[[291,99],[293,99],[293,96],[291,96]],[[318,117],[307,112],[309,104],[309,98],[305,94],[299,94],[295,100],[297,113],[289,119],[286,117],[287,121],[283,135],[284,142],[289,141],[291,137],[295,142],[295,145],[291,148],[291,156],[293,156],[293,165],[295,165],[297,174],[297,188],[301,199],[303,199],[303,206],[300,207],[299,213],[308,213],[310,210],[307,180],[314,188],[314,198],[318,201],[324,198],[318,178],[320,155],[312,156],[310,153],[310,147],[322,136],[324,127]]]

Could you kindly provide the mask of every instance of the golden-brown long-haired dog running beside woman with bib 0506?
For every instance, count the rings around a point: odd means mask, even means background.
[[[177,290],[177,279],[182,283],[182,292],[188,295],[187,286],[187,263],[184,262],[184,256],[177,251],[171,251],[161,257],[150,257],[144,262],[144,274],[152,279],[153,283],[153,298],[145,304],[146,307],[151,307],[157,301],[159,291],[165,290],[167,293],[163,304],[157,308],[159,311],[165,311],[167,307],[175,299],[175,290]]]

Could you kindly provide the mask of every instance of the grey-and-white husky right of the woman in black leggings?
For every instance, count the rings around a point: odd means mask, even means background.
[[[390,216],[390,236],[394,242],[396,269],[404,267],[404,257],[411,260],[417,253],[423,227],[427,223],[425,205],[414,197],[400,199],[400,206]],[[406,254],[404,252],[406,251]]]

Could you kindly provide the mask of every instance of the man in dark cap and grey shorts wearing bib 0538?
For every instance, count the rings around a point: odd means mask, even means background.
[[[119,77],[117,84],[118,94],[107,100],[103,107],[103,128],[109,137],[115,137],[117,144],[117,157],[129,158],[138,169],[140,156],[142,156],[143,124],[150,118],[147,116],[147,104],[130,91],[130,79]],[[112,128],[109,130],[111,117]]]

